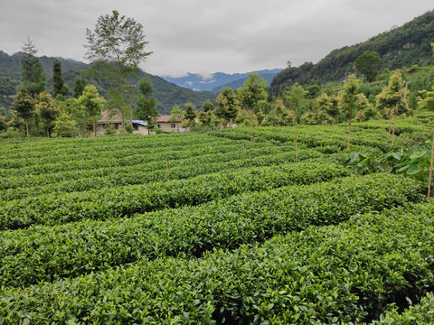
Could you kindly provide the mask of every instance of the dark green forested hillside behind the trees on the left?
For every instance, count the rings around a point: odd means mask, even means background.
[[[19,84],[20,59],[22,55],[21,52],[18,52],[10,56],[4,51],[0,51],[0,106],[7,108],[12,105],[12,96],[15,94],[16,86]],[[89,64],[76,60],[46,56],[42,56],[40,59],[44,68],[49,91],[52,90],[52,63],[55,59],[61,61],[63,79],[70,90],[70,96],[72,96],[74,80],[90,67]],[[138,77],[149,78],[151,80],[157,100],[157,108],[162,115],[169,114],[175,105],[184,107],[186,102],[192,102],[196,107],[201,107],[205,100],[214,100],[216,98],[215,94],[211,92],[194,91],[189,88],[179,87],[165,79],[148,74],[142,70],[139,71]],[[99,80],[92,79],[91,82],[96,83],[102,88],[107,88],[107,85],[104,85],[104,83]],[[131,82],[134,84],[137,83],[137,80],[132,79]]]

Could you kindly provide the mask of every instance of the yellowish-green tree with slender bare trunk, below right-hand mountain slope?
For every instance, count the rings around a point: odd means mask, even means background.
[[[395,142],[395,119],[397,115],[407,112],[407,93],[408,89],[404,88],[401,71],[396,71],[389,79],[386,87],[382,88],[382,92],[375,97],[377,107],[388,108],[391,112],[390,120],[392,119],[392,144]]]

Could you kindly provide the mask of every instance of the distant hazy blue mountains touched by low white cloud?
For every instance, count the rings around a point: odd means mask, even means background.
[[[281,69],[273,69],[258,70],[254,72],[266,79],[269,85],[274,76],[276,76],[280,71]],[[203,76],[199,73],[187,73],[184,77],[163,76],[163,79],[173,82],[181,87],[191,88],[194,90],[212,91],[217,94],[223,87],[230,87],[233,89],[242,87],[242,84],[244,83],[244,80],[247,79],[249,73],[250,72],[227,74],[216,72],[210,76]]]

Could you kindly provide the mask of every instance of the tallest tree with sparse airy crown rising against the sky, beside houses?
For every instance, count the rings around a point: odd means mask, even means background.
[[[131,116],[131,101],[127,93],[132,93],[128,79],[135,77],[138,64],[146,60],[152,52],[145,51],[143,26],[132,18],[112,14],[99,16],[95,30],[86,30],[88,45],[85,58],[96,62],[92,71],[110,82],[110,106],[117,108],[124,117]]]

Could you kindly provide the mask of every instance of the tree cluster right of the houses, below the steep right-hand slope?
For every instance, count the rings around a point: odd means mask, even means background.
[[[415,108],[434,110],[434,70],[428,67],[429,78],[418,82],[409,81],[401,70],[384,70],[382,81],[374,81],[378,70],[379,55],[366,51],[356,60],[356,69],[361,73],[349,75],[344,83],[313,83],[301,86],[297,83],[285,88],[278,97],[271,97],[266,91],[266,81],[256,73],[249,75],[242,88],[233,90],[223,88],[216,104],[207,101],[197,112],[192,104],[185,111],[174,108],[175,120],[184,114],[184,126],[205,128],[245,125],[296,126],[297,124],[325,125],[348,122],[348,150],[350,149],[351,124],[354,120],[365,121],[370,118],[388,119],[389,134],[394,143],[394,125],[397,116],[408,116]],[[413,73],[418,67],[411,67]],[[432,77],[432,78],[431,78]],[[427,86],[428,89],[420,89]],[[410,92],[413,88],[413,93]],[[417,93],[417,98],[414,98]],[[412,96],[410,96],[412,95]],[[252,137],[250,136],[250,140]]]

